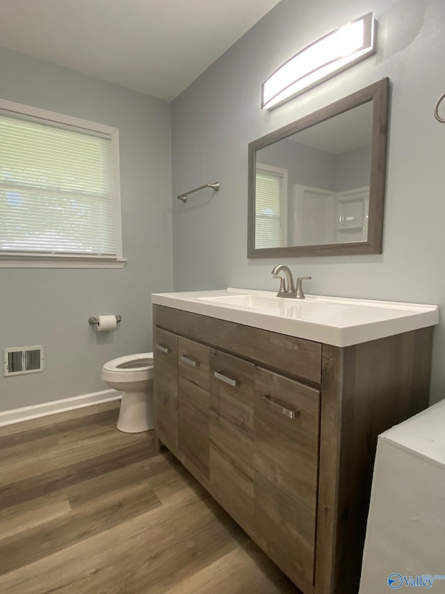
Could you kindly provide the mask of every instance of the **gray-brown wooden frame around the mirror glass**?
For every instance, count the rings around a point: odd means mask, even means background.
[[[369,181],[369,226],[366,242],[323,245],[255,248],[255,179],[256,153],[296,132],[305,130],[333,116],[373,102],[371,176]],[[383,211],[387,171],[387,144],[389,119],[389,78],[384,78],[360,91],[343,97],[313,114],[287,124],[266,136],[249,143],[248,167],[248,258],[350,256],[364,253],[382,253]]]

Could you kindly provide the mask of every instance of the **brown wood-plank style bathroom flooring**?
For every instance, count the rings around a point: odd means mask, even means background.
[[[0,428],[0,592],[298,590],[109,402]]]

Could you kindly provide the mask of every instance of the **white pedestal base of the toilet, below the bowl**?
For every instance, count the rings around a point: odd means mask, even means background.
[[[139,433],[153,428],[153,394],[147,391],[123,392],[118,429],[124,433]]]

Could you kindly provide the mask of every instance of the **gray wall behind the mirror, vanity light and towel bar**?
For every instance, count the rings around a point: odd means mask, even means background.
[[[373,11],[378,54],[274,111],[261,83],[310,42]],[[445,125],[432,110],[444,93],[443,0],[282,0],[172,104],[173,194],[219,181],[187,204],[174,201],[175,290],[227,286],[275,290],[276,258],[246,258],[248,143],[382,77],[391,120],[380,256],[281,259],[311,275],[308,292],[445,307]],[[310,289],[309,289],[310,286]],[[432,400],[445,396],[445,326],[435,331]]]

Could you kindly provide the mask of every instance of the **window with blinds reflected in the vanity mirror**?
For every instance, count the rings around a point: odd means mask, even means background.
[[[287,169],[257,163],[255,249],[287,244]]]

